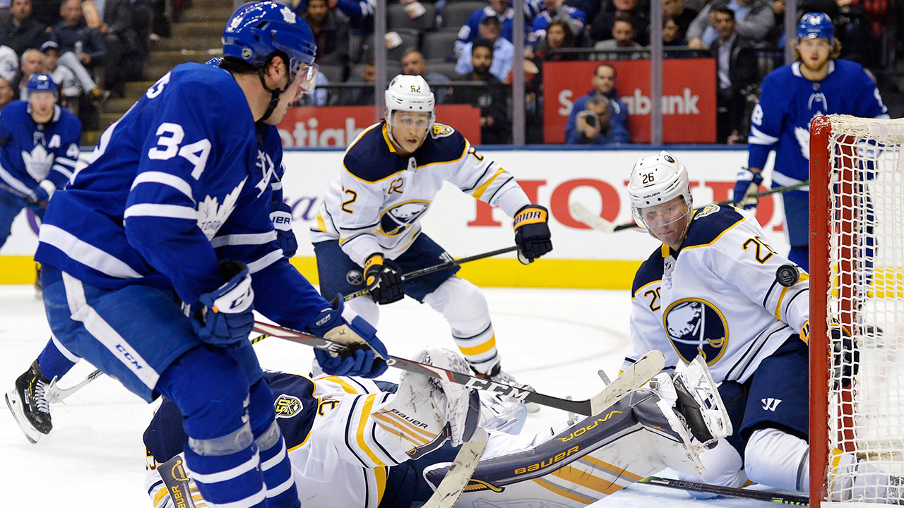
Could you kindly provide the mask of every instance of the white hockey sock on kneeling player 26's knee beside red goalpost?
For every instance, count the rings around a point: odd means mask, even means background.
[[[777,428],[758,428],[744,448],[750,481],[797,492],[810,488],[810,447]]]

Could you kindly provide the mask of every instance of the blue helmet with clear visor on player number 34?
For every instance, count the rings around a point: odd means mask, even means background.
[[[286,5],[269,1],[240,6],[226,22],[222,42],[223,56],[258,68],[267,63],[273,52],[286,53],[292,80],[298,71],[313,68],[317,52],[314,33],[307,22]],[[308,73],[313,74],[310,80],[314,84],[316,71]]]

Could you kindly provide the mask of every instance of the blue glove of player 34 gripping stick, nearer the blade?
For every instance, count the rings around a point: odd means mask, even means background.
[[[314,355],[320,367],[331,376],[359,376],[375,378],[386,372],[386,346],[377,338],[377,331],[362,317],[346,311],[343,316],[343,301],[339,298],[338,308],[325,308],[316,315],[314,322],[307,325],[312,334],[348,346],[343,354],[327,353],[320,349]],[[346,318],[350,319],[349,321]]]

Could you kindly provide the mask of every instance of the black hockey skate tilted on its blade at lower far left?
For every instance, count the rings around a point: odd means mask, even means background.
[[[6,406],[13,413],[13,418],[25,434],[25,438],[37,443],[42,434],[50,433],[50,405],[44,398],[51,380],[44,377],[38,361],[15,380],[15,388],[6,392]]]

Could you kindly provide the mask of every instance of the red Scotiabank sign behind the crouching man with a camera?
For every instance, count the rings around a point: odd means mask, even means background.
[[[574,101],[592,90],[598,61],[551,61],[543,66],[543,140],[565,143],[565,123]],[[611,61],[616,89],[628,112],[632,143],[650,142],[650,61]],[[663,142],[715,143],[716,61],[663,61]]]

